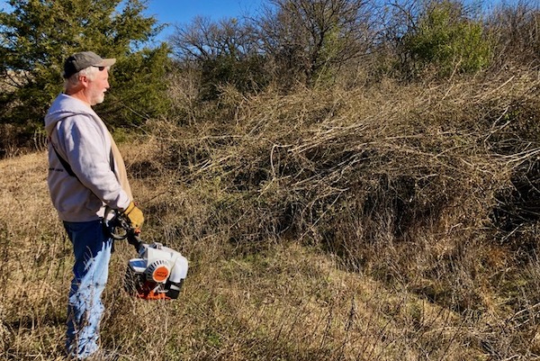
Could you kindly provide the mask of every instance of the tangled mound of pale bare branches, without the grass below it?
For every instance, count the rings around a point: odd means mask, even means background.
[[[212,220],[230,217],[231,241],[302,239],[350,266],[451,232],[525,250],[512,233],[536,221],[537,86],[500,75],[242,101],[229,88],[195,124],[149,126],[159,167],[219,191]]]

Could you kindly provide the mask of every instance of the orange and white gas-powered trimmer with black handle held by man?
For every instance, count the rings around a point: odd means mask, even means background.
[[[104,220],[103,225],[112,239],[127,239],[139,254],[128,262],[125,290],[144,300],[178,298],[187,275],[187,259],[161,243],[144,243],[121,212],[107,208]]]

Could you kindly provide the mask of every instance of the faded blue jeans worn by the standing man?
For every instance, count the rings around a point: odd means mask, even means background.
[[[75,264],[67,302],[69,356],[84,359],[98,349],[99,323],[103,316],[101,295],[109,276],[112,239],[102,221],[64,221],[73,244]]]

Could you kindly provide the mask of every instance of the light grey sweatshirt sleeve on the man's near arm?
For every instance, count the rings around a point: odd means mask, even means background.
[[[122,190],[111,169],[111,140],[108,134],[104,134],[92,117],[85,114],[65,119],[58,133],[67,162],[79,181],[111,208],[127,208],[129,196]]]

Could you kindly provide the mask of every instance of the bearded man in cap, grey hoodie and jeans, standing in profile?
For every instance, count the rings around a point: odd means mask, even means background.
[[[112,239],[103,229],[105,206],[126,214],[139,229],[144,217],[133,203],[120,152],[92,106],[109,88],[116,59],[78,52],[64,63],[64,93],[45,117],[49,135],[49,193],[74,248],[67,305],[67,354],[109,359],[99,348],[101,295],[107,282]]]

